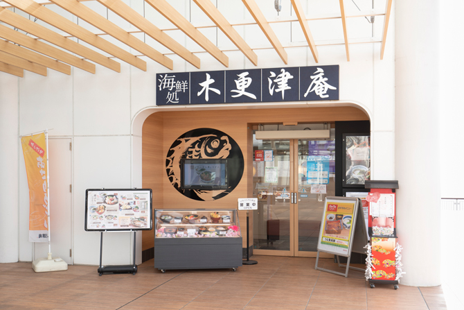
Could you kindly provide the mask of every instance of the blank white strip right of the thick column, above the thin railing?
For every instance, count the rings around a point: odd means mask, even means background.
[[[459,11],[463,1],[440,1],[440,180],[442,198],[464,198],[464,42],[456,31],[464,28]]]

